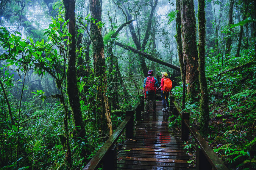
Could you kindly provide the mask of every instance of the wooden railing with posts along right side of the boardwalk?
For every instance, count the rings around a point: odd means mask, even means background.
[[[228,170],[224,163],[213,152],[201,134],[199,134],[196,128],[190,124],[189,113],[182,112],[182,110],[174,101],[173,96],[171,96],[170,101],[174,116],[181,116],[181,140],[188,140],[188,134],[190,132],[197,142],[198,147],[196,149],[196,169],[211,170],[213,168],[217,170]]]

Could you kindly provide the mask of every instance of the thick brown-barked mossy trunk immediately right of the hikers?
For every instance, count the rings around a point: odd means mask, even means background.
[[[196,96],[198,81],[198,53],[196,47],[196,17],[193,0],[182,0],[180,4],[183,59],[186,65],[188,98]]]

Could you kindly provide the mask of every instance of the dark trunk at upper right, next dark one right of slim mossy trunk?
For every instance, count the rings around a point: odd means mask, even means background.
[[[230,5],[229,5],[229,19],[228,19],[228,27],[229,30],[227,32],[227,40],[226,40],[226,57],[225,60],[227,61],[228,59],[230,59],[230,52],[231,52],[231,44],[232,44],[232,37],[231,37],[231,28],[230,26],[233,24],[233,8],[234,8],[234,0],[230,0]]]

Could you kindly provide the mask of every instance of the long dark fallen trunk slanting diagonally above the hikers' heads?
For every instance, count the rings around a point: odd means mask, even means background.
[[[158,59],[157,57],[154,57],[153,55],[147,54],[147,53],[145,53],[145,52],[143,52],[143,51],[139,51],[138,49],[135,49],[135,48],[133,48],[133,47],[131,47],[131,46],[127,46],[127,45],[125,45],[125,44],[123,44],[123,43],[120,43],[120,42],[116,42],[116,41],[115,41],[114,44],[115,44],[115,45],[118,45],[118,46],[120,46],[120,47],[122,47],[122,48],[124,48],[124,49],[130,50],[130,51],[132,51],[132,52],[134,52],[134,53],[136,53],[136,54],[140,54],[142,57],[145,57],[145,58],[147,58],[147,59],[149,59],[149,60],[151,60],[151,61],[157,62],[157,63],[159,63],[159,64],[162,64],[162,65],[165,65],[165,66],[167,66],[167,67],[169,67],[169,68],[172,68],[172,69],[174,69],[174,70],[180,71],[179,66],[173,65],[173,64],[171,64],[171,63],[169,63],[169,62],[166,62],[166,61],[164,61],[164,60],[160,60],[160,59]]]

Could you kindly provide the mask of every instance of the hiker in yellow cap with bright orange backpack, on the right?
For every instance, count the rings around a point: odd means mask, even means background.
[[[162,111],[168,111],[170,109],[168,97],[169,97],[169,92],[171,92],[172,82],[168,78],[168,74],[166,72],[161,72],[161,74],[162,74],[161,86],[158,87],[157,90],[161,88],[161,98],[163,102]]]

